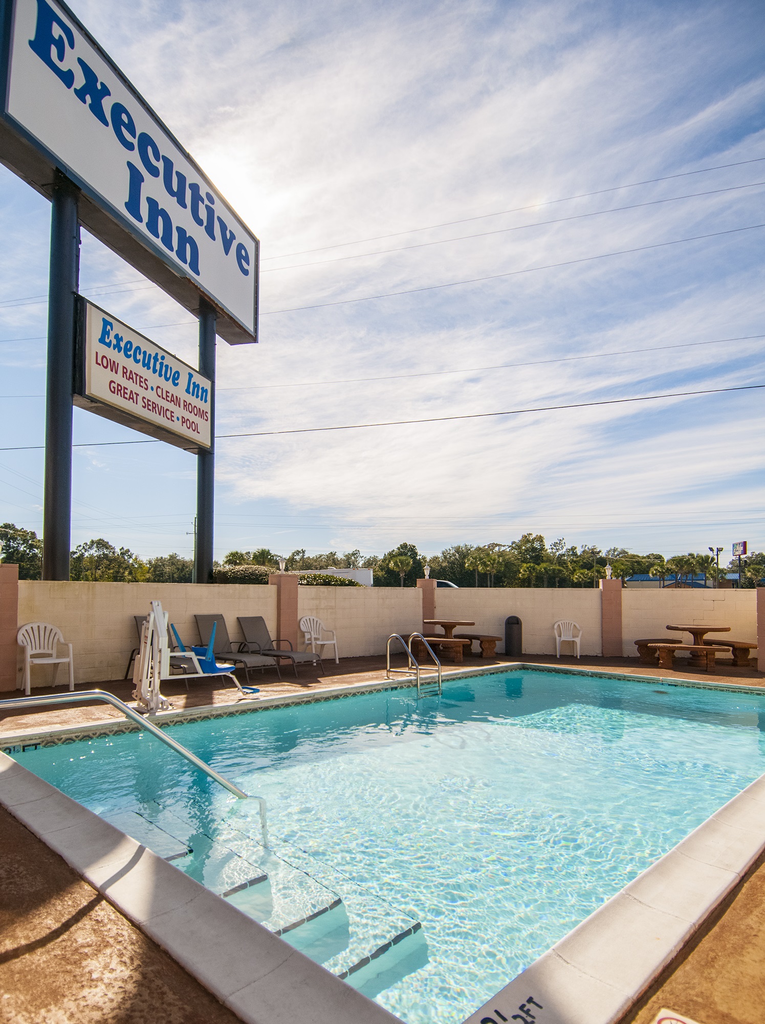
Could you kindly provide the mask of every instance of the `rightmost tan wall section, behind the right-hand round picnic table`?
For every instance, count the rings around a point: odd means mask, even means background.
[[[629,590],[622,592],[622,640],[625,657],[635,656],[635,641],[658,637],[690,643],[687,633],[671,633],[667,626],[730,626],[731,640],[757,642],[755,590]],[[716,639],[710,635],[708,640]]]

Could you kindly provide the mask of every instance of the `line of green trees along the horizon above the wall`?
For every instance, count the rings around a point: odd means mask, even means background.
[[[42,578],[42,540],[31,529],[14,523],[0,524],[2,560],[16,562],[22,580]],[[233,579],[226,569],[252,566],[279,570],[280,556],[268,548],[229,551],[216,563],[215,574]],[[646,574],[661,582],[689,587],[699,577],[715,579],[716,560],[712,554],[636,555],[627,548],[595,545],[567,546],[562,538],[549,544],[541,534],[524,534],[509,544],[457,544],[440,554],[425,555],[414,544],[399,544],[383,555],[363,557],[360,551],[328,551],[309,555],[298,548],[285,556],[287,571],[329,568],[371,568],[376,587],[415,587],[430,566],[432,580],[447,580],[458,587],[597,587],[610,565],[614,579],[623,581]],[[765,552],[753,552],[741,560],[741,586],[753,588],[765,579]],[[173,552],[143,559],[129,548],[117,548],[103,538],[78,545],[72,552],[72,580],[115,583],[190,583],[194,563]],[[738,560],[720,565],[725,571],[738,570]],[[244,579],[244,578],[243,578]]]

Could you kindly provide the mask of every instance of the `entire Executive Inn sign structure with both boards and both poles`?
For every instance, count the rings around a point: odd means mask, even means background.
[[[199,455],[205,582],[215,335],[257,340],[258,240],[65,4],[0,0],[0,161],[52,200],[43,577],[69,579],[74,399]],[[199,316],[199,372],[78,298],[81,223]]]

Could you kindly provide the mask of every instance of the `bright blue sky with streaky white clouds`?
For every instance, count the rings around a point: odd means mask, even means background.
[[[71,6],[261,240],[217,558],[765,549],[765,389],[482,415],[765,385],[761,3]],[[50,205],[2,167],[0,229],[0,521],[40,532]],[[196,365],[85,231],[80,287]],[[74,423],[73,547],[190,556],[196,458]]]

